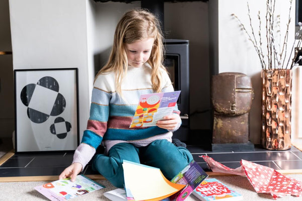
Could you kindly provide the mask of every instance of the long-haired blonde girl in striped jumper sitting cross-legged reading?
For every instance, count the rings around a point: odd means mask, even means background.
[[[171,143],[172,132],[181,125],[177,105],[157,126],[129,128],[140,94],[174,90],[162,62],[158,19],[142,9],[125,13],[117,24],[109,60],[95,78],[82,143],[59,179],[74,181],[93,156],[93,169],[116,187],[124,185],[123,160],[158,167],[167,179],[193,160],[187,149]],[[101,143],[105,153],[96,154]]]

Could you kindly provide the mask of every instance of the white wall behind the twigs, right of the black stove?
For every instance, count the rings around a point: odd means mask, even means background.
[[[242,72],[247,74],[252,79],[253,88],[255,90],[255,98],[253,100],[250,112],[250,137],[253,143],[260,143],[261,131],[261,64],[254,46],[248,40],[245,32],[241,30],[237,20],[232,17],[236,14],[243,22],[245,27],[250,30],[250,21],[248,18],[247,2],[242,0],[215,0],[218,2],[218,61],[219,73],[221,72]],[[266,14],[266,1],[253,0],[248,1],[250,5],[252,25],[254,32],[258,34],[258,11],[260,11],[261,23],[263,27],[262,36],[266,36],[265,32],[265,14]],[[281,39],[283,39],[286,23],[288,22],[289,1],[279,0],[276,1],[275,15],[280,14],[281,22]],[[294,10],[295,4],[292,3],[291,8],[291,24],[289,26],[288,49],[291,49],[294,40]],[[275,29],[277,29],[275,27]],[[217,30],[212,30],[217,31]],[[265,40],[262,38],[262,40]],[[281,43],[282,44],[282,43]],[[289,51],[289,50],[288,50]]]

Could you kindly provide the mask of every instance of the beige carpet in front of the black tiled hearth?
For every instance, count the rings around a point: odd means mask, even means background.
[[[302,180],[301,174],[288,175],[295,179]],[[233,187],[236,191],[243,194],[245,201],[261,201],[261,200],[274,200],[271,195],[264,193],[256,193],[249,183],[246,177],[242,176],[215,176],[223,183]],[[103,193],[112,189],[115,189],[107,180],[97,180],[100,184],[106,186],[101,190],[97,190],[71,200],[109,200]],[[48,200],[42,194],[34,189],[35,186],[42,185],[47,183],[47,181],[32,181],[32,182],[0,182],[0,200]],[[194,195],[190,195],[186,201],[198,201]],[[293,200],[298,201],[302,200],[302,197],[286,196],[278,198],[279,201]]]

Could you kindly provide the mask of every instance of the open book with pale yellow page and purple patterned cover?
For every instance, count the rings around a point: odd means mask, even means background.
[[[183,201],[208,176],[194,160],[171,181],[159,168],[124,160],[123,169],[126,198],[132,201]]]

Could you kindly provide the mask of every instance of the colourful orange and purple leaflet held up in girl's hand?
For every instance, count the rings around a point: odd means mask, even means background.
[[[142,94],[129,128],[155,126],[163,117],[171,115],[180,91]]]

